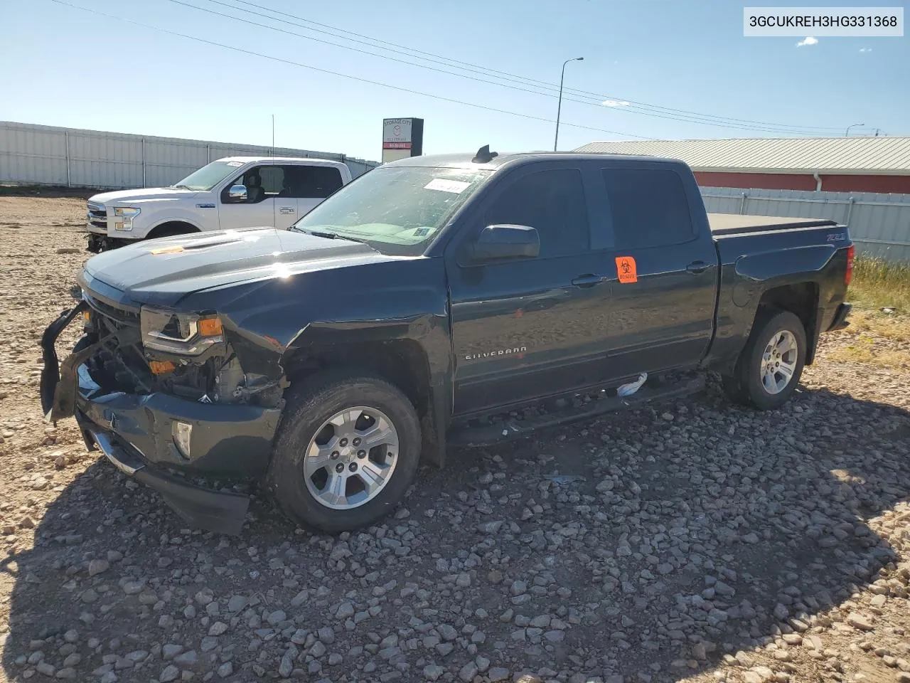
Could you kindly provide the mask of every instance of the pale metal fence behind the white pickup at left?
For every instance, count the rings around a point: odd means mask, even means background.
[[[379,165],[310,149],[273,149],[0,121],[0,183],[153,188],[175,183],[213,159],[234,156],[344,161],[355,178]]]

